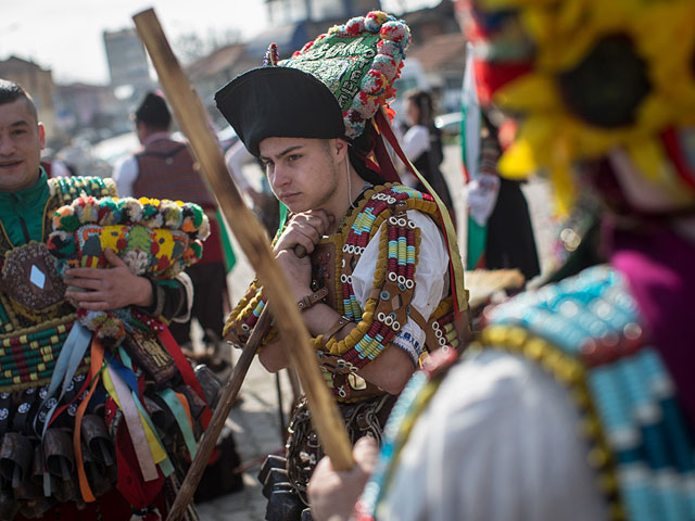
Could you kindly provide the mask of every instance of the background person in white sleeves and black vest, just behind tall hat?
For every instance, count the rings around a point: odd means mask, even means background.
[[[442,199],[444,206],[456,224],[456,213],[446,179],[440,170],[444,160],[442,134],[434,125],[434,104],[432,96],[420,89],[405,93],[405,117],[408,128],[403,135],[403,151],[413,162],[425,180]],[[426,191],[421,182],[415,185],[416,190]]]

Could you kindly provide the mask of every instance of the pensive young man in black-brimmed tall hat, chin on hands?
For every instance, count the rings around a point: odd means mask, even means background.
[[[408,42],[405,24],[372,12],[319,36],[283,66],[270,55],[270,66],[216,94],[290,212],[274,252],[353,441],[364,434],[380,440],[420,358],[458,344],[437,204],[401,185],[382,185],[397,178],[390,177],[395,170],[376,125],[381,132],[390,128],[377,111],[392,93]],[[307,255],[298,256],[298,246]],[[264,305],[254,282],[226,333],[243,345]],[[288,366],[290,342],[275,328],[267,333],[260,358],[268,370]],[[287,461],[276,461],[286,474],[262,471],[268,519],[299,519],[304,504],[290,498],[299,493],[306,500],[306,482],[323,454],[304,402],[289,432]]]

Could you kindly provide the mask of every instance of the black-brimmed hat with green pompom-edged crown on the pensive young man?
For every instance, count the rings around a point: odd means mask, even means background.
[[[331,27],[283,62],[270,46],[264,67],[231,80],[215,101],[256,156],[267,137],[354,139],[395,96],[409,42],[403,21],[372,11]]]

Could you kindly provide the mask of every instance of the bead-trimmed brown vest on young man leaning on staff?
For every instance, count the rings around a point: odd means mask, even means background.
[[[420,230],[408,219],[408,209],[437,213],[429,195],[410,188],[387,185],[369,189],[338,231],[324,239],[312,255],[313,289],[327,288],[327,304],[357,323],[344,340],[323,335],[313,339],[324,376],[339,402],[383,394],[362,379],[357,370],[377,358],[390,343],[397,342],[396,333],[408,318],[426,333],[422,354],[441,346],[458,346],[451,295],[440,302],[430,317],[422,317],[410,306]],[[354,294],[352,274],[380,228],[374,289],[363,309]],[[264,306],[262,290],[253,283],[229,316],[225,336],[238,344],[245,343]],[[274,335],[271,329],[266,342]]]

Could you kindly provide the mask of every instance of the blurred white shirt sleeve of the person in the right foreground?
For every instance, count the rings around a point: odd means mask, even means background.
[[[401,453],[377,519],[606,519],[567,390],[520,357],[452,368]]]

